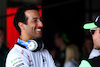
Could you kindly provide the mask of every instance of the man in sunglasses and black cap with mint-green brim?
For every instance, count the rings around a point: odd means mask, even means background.
[[[95,22],[87,23],[83,26],[84,29],[90,29],[94,49],[100,50],[100,15],[96,18]],[[82,60],[79,67],[100,67],[100,56],[88,60]]]

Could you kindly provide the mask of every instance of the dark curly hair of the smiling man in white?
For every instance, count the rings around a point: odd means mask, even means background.
[[[21,6],[17,9],[17,12],[15,14],[15,17],[14,17],[14,26],[16,28],[16,30],[19,32],[19,34],[21,35],[21,30],[20,30],[20,27],[18,26],[18,23],[19,22],[22,22],[24,24],[27,24],[27,20],[28,18],[25,16],[25,11],[26,10],[39,10],[37,8],[36,5],[24,5],[24,6]]]

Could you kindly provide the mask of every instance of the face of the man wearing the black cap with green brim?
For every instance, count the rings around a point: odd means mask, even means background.
[[[96,28],[94,34],[92,35],[94,48],[100,49],[100,28]]]

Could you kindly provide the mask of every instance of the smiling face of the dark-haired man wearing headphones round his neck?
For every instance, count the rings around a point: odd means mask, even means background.
[[[43,23],[40,21],[40,15],[37,10],[26,10],[25,16],[28,18],[25,24],[26,34],[32,39],[42,37]]]

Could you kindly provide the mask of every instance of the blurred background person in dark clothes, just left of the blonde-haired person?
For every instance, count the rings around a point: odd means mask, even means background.
[[[69,40],[64,32],[58,32],[55,34],[54,42],[56,47],[58,48],[55,51],[55,64],[57,67],[63,67],[65,62],[65,50],[69,43]]]

